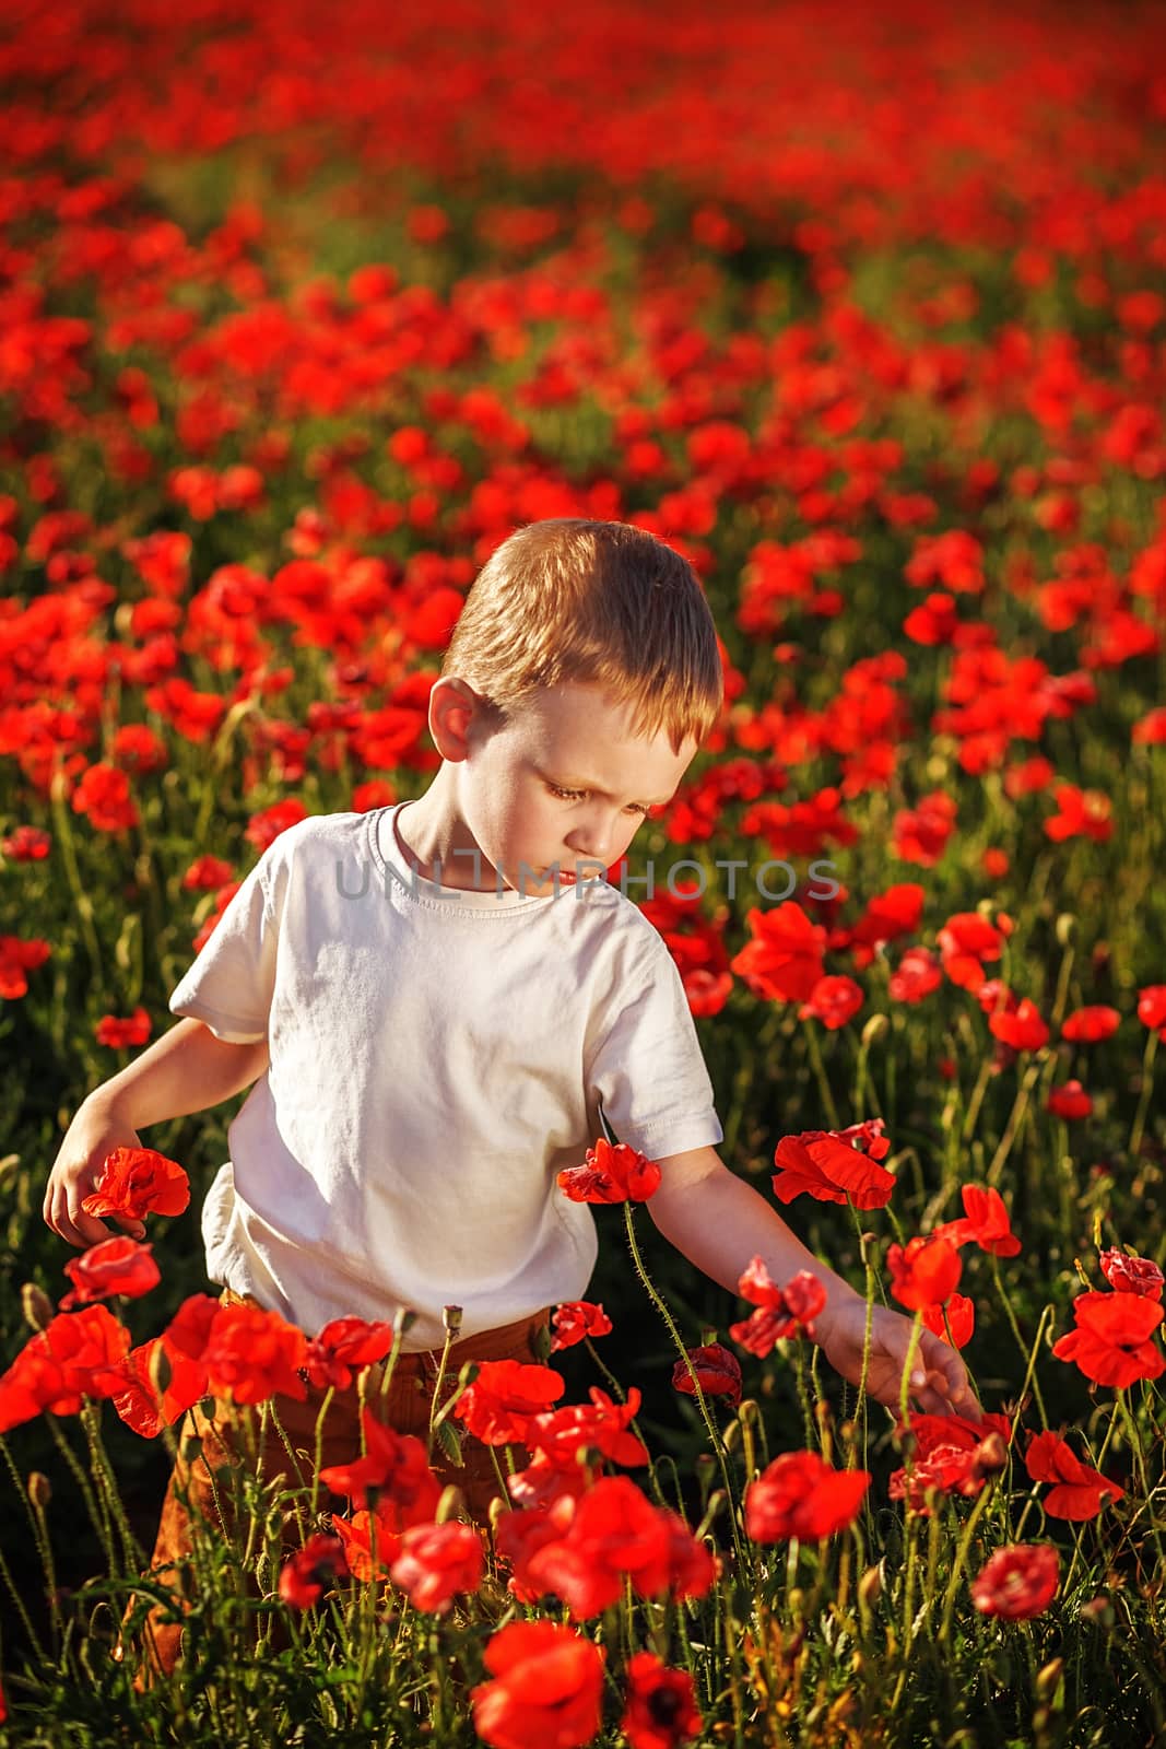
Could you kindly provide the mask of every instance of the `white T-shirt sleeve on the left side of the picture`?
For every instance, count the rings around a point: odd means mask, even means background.
[[[276,847],[278,840],[250,871],[170,997],[171,1014],[201,1020],[226,1044],[267,1035],[280,927]]]

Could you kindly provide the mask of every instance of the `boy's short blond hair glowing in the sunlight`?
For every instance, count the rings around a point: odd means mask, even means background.
[[[724,693],[717,630],[687,560],[628,523],[556,518],[519,528],[465,598],[441,668],[498,721],[565,680],[633,708],[631,733],[673,750],[713,728]]]

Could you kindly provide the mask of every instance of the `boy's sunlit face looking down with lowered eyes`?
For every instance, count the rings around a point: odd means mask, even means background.
[[[666,731],[631,733],[631,707],[601,687],[563,682],[519,707],[456,764],[462,817],[484,859],[530,897],[552,892],[552,866],[579,880],[619,862],[654,806],[670,801],[696,754]],[[594,862],[596,868],[577,864]],[[531,869],[526,873],[523,869]]]

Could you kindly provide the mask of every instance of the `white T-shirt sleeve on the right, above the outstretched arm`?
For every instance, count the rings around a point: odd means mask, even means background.
[[[603,1102],[615,1137],[649,1160],[715,1146],[724,1139],[677,964],[652,941],[638,955],[629,988],[598,1028],[587,1091]]]

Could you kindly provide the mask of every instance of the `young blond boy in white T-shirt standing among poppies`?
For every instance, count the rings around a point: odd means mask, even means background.
[[[547,1308],[582,1298],[594,1221],[556,1174],[601,1133],[601,1104],[661,1163],[649,1212],[699,1270],[736,1294],[760,1254],[778,1284],[825,1284],[818,1340],[857,1382],[865,1300],[722,1165],[677,967],[600,878],[671,799],[720,703],[711,614],[678,554],[619,523],[512,535],[434,684],[442,764],[425,796],[302,820],[269,847],[175,990],[180,1023],[80,1107],[49,1226],[73,1245],[108,1237],[79,1207],[105,1154],[253,1083],[203,1212],[208,1273],[309,1334],[416,1312],[390,1404],[407,1431],[409,1410],[428,1420],[418,1378],[442,1307],[462,1307],[456,1376],[474,1355],[533,1359]],[[907,1319],[874,1310],[867,1387],[890,1406],[909,1340]],[[928,1333],[911,1385],[923,1410],[975,1413],[958,1355]],[[329,1450],[351,1455],[355,1401],[337,1404]],[[309,1445],[311,1415],[278,1406]],[[446,1473],[475,1516],[495,1492],[482,1459]],[[171,1485],[161,1557],[177,1513]]]

